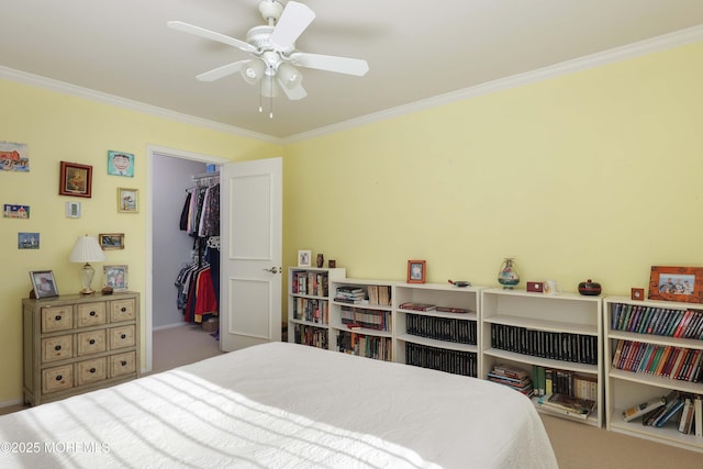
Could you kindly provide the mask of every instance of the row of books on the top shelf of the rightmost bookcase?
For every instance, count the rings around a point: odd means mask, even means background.
[[[703,311],[613,304],[611,328],[638,334],[703,339]]]

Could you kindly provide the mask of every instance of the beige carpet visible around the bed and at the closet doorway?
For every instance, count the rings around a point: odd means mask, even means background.
[[[220,343],[198,326],[160,330],[154,332],[153,337],[153,372],[221,354]],[[18,409],[0,409],[0,414]],[[543,422],[562,469],[703,468],[700,453],[548,415],[543,415]]]

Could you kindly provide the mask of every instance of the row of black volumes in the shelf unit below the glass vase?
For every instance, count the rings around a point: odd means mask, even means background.
[[[533,357],[598,365],[598,336],[491,324],[491,347]]]

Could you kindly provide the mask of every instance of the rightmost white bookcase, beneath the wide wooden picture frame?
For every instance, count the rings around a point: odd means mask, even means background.
[[[635,372],[613,366],[618,340],[632,340],[660,346],[703,349],[703,340],[632,332],[633,327],[613,327],[612,320],[617,305],[631,305],[662,310],[703,310],[703,305],[673,301],[636,301],[626,297],[606,297],[603,300],[603,328],[605,336],[605,402],[606,427],[610,431],[650,439],[694,451],[703,451],[703,437],[687,435],[678,429],[678,417],[662,427],[643,425],[641,417],[625,422],[623,411],[652,398],[666,397],[670,391],[703,395],[703,383],[689,382],[654,373]],[[629,330],[629,331],[628,331]]]

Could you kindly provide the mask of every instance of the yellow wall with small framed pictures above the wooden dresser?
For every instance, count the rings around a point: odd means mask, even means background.
[[[125,249],[105,252],[107,260],[96,265],[93,288],[102,282],[102,265],[125,264],[130,289],[145,292],[148,214],[144,208],[152,180],[146,175],[147,145],[232,160],[280,156],[282,148],[12,81],[0,80],[0,141],[29,144],[31,168],[29,174],[0,172],[0,204],[31,208],[29,220],[0,217],[1,404],[21,399],[21,301],[32,288],[30,271],[53,270],[59,293],[77,293],[80,266],[68,261],[76,237],[124,233]],[[134,178],[108,176],[110,149],[135,155]],[[92,198],[58,196],[62,160],[93,167]],[[118,213],[118,187],[140,190],[140,213]],[[80,219],[66,217],[67,201],[81,203]],[[38,232],[41,248],[18,249],[19,232]]]

